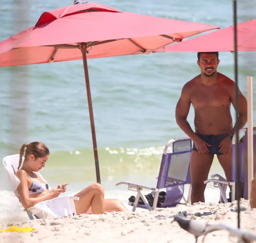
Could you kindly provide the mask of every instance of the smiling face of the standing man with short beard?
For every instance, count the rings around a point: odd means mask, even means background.
[[[217,60],[216,54],[202,53],[197,64],[206,77],[211,77],[217,72],[219,62],[220,60]]]

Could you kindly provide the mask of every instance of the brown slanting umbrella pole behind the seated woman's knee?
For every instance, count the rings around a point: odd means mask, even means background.
[[[100,183],[100,166],[99,166],[99,160],[98,160],[98,149],[97,149],[97,142],[96,142],[94,117],[93,117],[93,111],[92,111],[92,96],[91,96],[89,73],[88,73],[87,58],[86,58],[87,49],[86,49],[85,43],[81,43],[81,44],[82,46],[80,47],[80,49],[83,55],[83,69],[84,69],[84,75],[85,75],[88,108],[89,108],[90,123],[91,123],[91,130],[92,130],[92,144],[93,144],[93,152],[94,152],[94,160],[95,160],[96,179],[97,179],[97,183]]]

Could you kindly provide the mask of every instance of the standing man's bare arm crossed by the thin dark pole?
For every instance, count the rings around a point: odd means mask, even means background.
[[[237,111],[238,113],[238,119],[235,123],[235,126],[233,127],[233,129],[231,130],[231,134],[234,135],[238,126],[238,129],[240,130],[241,128],[243,128],[247,122],[247,100],[246,98],[243,96],[243,94],[241,93],[241,91],[239,90],[238,87],[238,109],[237,109],[237,105],[236,105],[236,98],[235,98],[235,87],[236,84],[235,82],[232,83],[232,85],[230,85],[230,100],[233,104],[234,109]]]

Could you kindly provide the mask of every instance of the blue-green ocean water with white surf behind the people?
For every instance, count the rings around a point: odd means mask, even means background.
[[[233,25],[230,0],[92,2],[221,28]],[[256,0],[237,2],[238,23],[255,18]],[[72,3],[0,0],[0,40],[33,26],[44,11]],[[186,136],[175,122],[175,106],[183,85],[199,73],[196,58],[196,53],[151,53],[88,60],[100,177],[107,198],[119,198],[127,205],[134,194],[126,186],[116,187],[119,181],[156,185],[164,145]],[[218,71],[233,79],[233,54],[223,52],[219,58]],[[245,97],[247,76],[256,76],[254,52],[239,53],[239,88]],[[255,85],[253,94],[255,106]],[[42,174],[52,187],[70,182],[68,194],[96,181],[82,60],[0,68],[0,105],[1,160],[19,153],[23,143],[42,141],[51,153]],[[234,109],[232,114],[235,123]],[[192,127],[193,115],[191,109]],[[217,160],[211,173],[224,175]],[[217,203],[218,193],[208,184],[206,201]],[[10,191],[1,165],[0,222],[13,220],[28,217]]]

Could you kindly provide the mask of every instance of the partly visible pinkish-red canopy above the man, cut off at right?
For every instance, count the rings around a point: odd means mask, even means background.
[[[256,19],[237,24],[237,50],[256,51]],[[235,51],[234,26],[216,30],[182,43],[170,45],[165,51]]]

